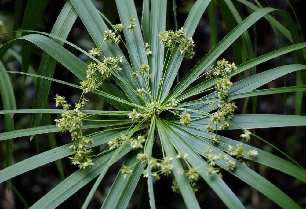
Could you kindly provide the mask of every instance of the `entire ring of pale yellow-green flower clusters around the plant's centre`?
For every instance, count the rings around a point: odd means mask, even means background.
[[[136,24],[134,20],[134,17],[130,17],[129,25],[116,24],[112,25],[113,29],[104,31],[103,42],[99,44],[98,47],[89,50],[89,54],[93,57],[102,56],[103,51],[101,50],[101,47],[106,41],[110,41],[114,44],[119,44],[122,39],[118,33],[121,32],[123,28],[127,28],[128,31],[135,28]],[[171,30],[163,31],[159,33],[159,36],[161,39],[161,44],[166,44],[170,51],[173,51],[176,43],[178,43],[178,50],[181,53],[185,53],[185,58],[191,59],[195,55],[195,51],[193,49],[195,43],[191,37],[186,36],[186,31],[184,28],[181,28],[175,32]],[[152,51],[150,51],[149,44],[145,43],[144,48],[147,56],[150,56]],[[84,106],[89,101],[87,98],[85,98],[85,94],[92,91],[99,91],[99,87],[102,85],[103,80],[113,78],[113,74],[120,77],[119,71],[122,70],[120,63],[123,61],[123,59],[124,58],[122,56],[103,56],[102,61],[88,64],[88,68],[86,70],[87,80],[80,82],[83,93],[80,96],[79,102],[74,104],[74,109],[70,109],[71,105],[65,101],[65,97],[56,94],[55,106],[62,107],[63,112],[58,115],[58,118],[55,120],[55,122],[57,127],[59,127],[62,132],[69,131],[71,133],[72,145],[69,148],[72,149],[74,155],[69,158],[71,159],[72,164],[78,165],[80,169],[85,169],[86,167],[93,165],[91,159],[92,156],[90,155],[92,150],[90,147],[94,142],[90,137],[83,136],[81,131],[84,120],[86,120],[88,117],[91,117],[91,115],[86,115],[84,112],[82,112]],[[221,129],[226,129],[230,126],[234,111],[237,108],[235,103],[230,102],[230,100],[227,98],[228,91],[232,86],[232,82],[230,81],[228,74],[234,73],[236,70],[237,66],[235,63],[230,64],[229,61],[222,59],[218,60],[217,66],[215,68],[212,68],[206,73],[206,78],[218,76],[218,80],[214,89],[215,94],[218,96],[220,101],[218,103],[210,103],[211,106],[216,107],[218,110],[213,114],[206,113],[205,115],[210,117],[210,124],[207,124],[206,131],[211,132],[211,138],[207,139],[211,140],[212,144],[215,146],[217,146],[219,143],[227,145],[226,143],[223,143],[217,135],[217,129],[218,126]],[[132,71],[130,75],[134,79],[137,79],[139,75],[143,78],[146,78],[147,80],[152,79],[152,74],[150,74],[150,67],[146,63],[141,64],[138,67],[138,70]],[[138,96],[144,100],[145,97],[149,95],[147,92],[148,90],[149,89],[140,87],[135,89],[135,92],[138,93]],[[181,112],[181,115],[178,114],[178,109],[175,108],[177,107],[179,101],[177,101],[175,98],[171,98],[169,102],[169,104],[161,105],[157,101],[145,101],[145,107],[143,109],[133,108],[132,111],[127,114],[127,117],[133,124],[140,121],[150,121],[152,116],[158,116],[162,111],[170,111],[168,108],[172,108],[174,111],[170,112],[180,116],[180,123],[183,126],[189,126],[192,122],[191,115],[186,111]],[[242,142],[243,140],[249,141],[251,135],[252,133],[250,131],[244,130],[243,134],[241,134]],[[106,151],[117,149],[123,143],[126,143],[128,146],[130,146],[132,150],[139,150],[139,153],[136,156],[137,162],[132,166],[123,165],[120,169],[120,172],[124,178],[132,175],[132,167],[137,163],[147,164],[147,167],[143,170],[143,177],[148,178],[149,173],[151,173],[152,177],[154,177],[156,180],[159,180],[161,176],[168,176],[173,172],[173,158],[164,156],[162,159],[157,159],[154,157],[150,159],[146,153],[142,152],[146,143],[145,132],[141,132],[140,134],[129,138],[128,134],[121,134],[120,137],[113,138],[107,142],[108,149]],[[188,163],[188,153],[177,150],[176,158],[181,159],[181,161],[185,163],[186,167],[186,169],[180,168],[178,173],[186,176],[194,192],[197,191],[196,182],[200,178],[199,168],[202,166],[208,165],[207,169],[205,170],[205,173],[208,176],[217,175],[218,177],[222,177],[220,168],[215,167],[219,160],[224,160],[226,162],[226,168],[228,170],[234,171],[236,168],[236,160],[248,166],[245,158],[251,158],[258,155],[258,151],[255,149],[247,151],[244,150],[242,143],[227,146],[228,149],[226,153],[222,152],[216,154],[210,147],[208,147],[206,150],[203,150],[207,161],[205,164],[198,167],[192,167]],[[235,160],[230,160],[229,156],[235,157]],[[175,180],[173,181],[171,188],[174,192],[179,192],[179,187]]]

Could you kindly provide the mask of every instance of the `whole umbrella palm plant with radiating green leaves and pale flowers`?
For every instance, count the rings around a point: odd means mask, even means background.
[[[187,208],[199,208],[195,193],[196,182],[203,178],[228,208],[244,208],[241,201],[222,179],[229,172],[249,184],[282,208],[299,208],[289,196],[248,167],[254,161],[284,172],[306,183],[306,172],[296,161],[281,150],[253,134],[248,129],[265,127],[305,126],[305,116],[286,115],[234,115],[237,108],[234,99],[274,93],[305,91],[304,85],[256,90],[258,87],[291,72],[304,78],[306,69],[302,64],[279,66],[256,74],[256,65],[289,52],[296,53],[297,63],[303,62],[306,43],[299,43],[297,29],[292,18],[284,11],[289,30],[269,13],[273,8],[260,8],[244,0],[238,0],[254,10],[242,20],[231,0],[218,1],[220,7],[228,9],[237,21],[234,27],[211,49],[188,74],[174,85],[183,59],[192,59],[195,45],[192,35],[200,18],[211,1],[197,0],[184,26],[176,31],[166,30],[166,0],[154,0],[149,5],[144,0],[142,24],[137,17],[132,0],[116,0],[120,24],[110,21],[89,0],[67,1],[50,34],[33,33],[11,40],[0,48],[0,55],[18,40],[30,42],[44,52],[38,74],[28,73],[29,45],[22,48],[21,73],[38,77],[33,109],[16,109],[12,85],[7,73],[1,73],[1,96],[5,110],[7,132],[0,140],[7,144],[7,168],[0,171],[1,182],[50,162],[70,156],[72,164],[79,169],[39,199],[31,208],[56,208],[91,180],[95,180],[82,208],[87,208],[100,182],[110,166],[127,155],[101,208],[126,208],[140,178],[147,178],[151,208],[156,208],[153,182],[162,176],[172,178],[172,189],[181,193]],[[84,51],[66,41],[70,29],[80,17],[96,44],[96,48]],[[265,55],[255,57],[247,29],[260,18],[266,18],[274,29],[281,31],[292,45]],[[124,40],[121,36],[124,35]],[[48,36],[48,37],[47,37]],[[242,36],[248,61],[235,63],[219,56],[235,40]],[[63,44],[80,50],[91,59],[84,63]],[[120,47],[128,51],[123,55]],[[213,66],[218,59],[217,65]],[[52,78],[56,63],[61,63],[80,79],[80,85]],[[2,70],[4,66],[1,65]],[[232,83],[230,77],[245,70],[250,77]],[[12,72],[12,71],[7,71]],[[200,77],[206,80],[188,88]],[[71,107],[65,97],[54,95],[57,107],[63,110],[45,109],[50,83],[59,82],[80,89],[80,100]],[[113,84],[115,83],[115,85]],[[304,84],[304,83],[303,83]],[[212,92],[212,93],[208,93]],[[84,110],[90,101],[86,96],[95,93],[105,98],[118,111]],[[60,94],[60,93],[59,93]],[[188,98],[203,95],[198,100]],[[255,111],[253,111],[255,113]],[[35,113],[32,128],[13,131],[12,114]],[[57,113],[56,125],[39,126],[43,113]],[[112,127],[88,135],[83,129]],[[230,139],[219,135],[223,129],[240,129],[241,139]],[[43,133],[68,131],[72,142],[55,147],[12,165],[13,138]],[[248,145],[248,141],[259,139],[284,155],[280,158]],[[91,148],[101,144],[108,148],[94,153]],[[157,159],[152,151],[158,144],[162,158]],[[59,166],[60,167],[60,166]]]

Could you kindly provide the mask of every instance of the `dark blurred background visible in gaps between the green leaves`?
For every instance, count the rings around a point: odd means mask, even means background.
[[[12,30],[13,23],[13,14],[14,14],[14,2],[13,0],[0,0],[0,20],[4,21],[7,24],[8,31]],[[27,1],[23,1],[23,11]],[[194,1],[192,0],[176,0],[177,2],[177,22],[178,27],[184,25],[185,19],[190,11]],[[250,11],[243,5],[238,4],[233,0],[235,5],[240,11],[240,14],[243,18],[247,17]],[[253,2],[253,1],[251,1]],[[306,33],[306,16],[305,16],[305,0],[291,0],[293,8],[297,13],[297,17],[300,21],[302,27],[302,32]],[[95,6],[100,9],[106,17],[110,19],[113,23],[119,23],[119,17],[116,10],[115,1],[103,1],[95,0]],[[136,7],[141,18],[142,10],[142,1],[136,0]],[[236,4],[237,3],[237,4]],[[254,3],[254,2],[253,2]],[[263,6],[267,6],[267,3],[274,8],[283,9],[289,12],[289,14],[295,19],[292,10],[285,0],[267,0],[267,2],[260,0],[260,3]],[[49,1],[47,9],[42,15],[42,20],[39,24],[39,30],[43,32],[50,32],[54,22],[56,21],[58,14],[60,13],[62,7],[64,6],[64,0],[52,0]],[[167,14],[167,28],[175,29],[173,10],[172,10],[172,1],[169,1],[168,4],[168,14]],[[218,6],[215,7],[216,16],[217,16],[217,30],[218,30],[218,41],[220,41],[227,33],[225,23],[222,21],[222,15],[218,9]],[[284,22],[282,17],[276,12],[274,13],[278,21]],[[21,21],[20,21],[21,25]],[[254,27],[251,27],[248,30],[252,43],[256,45],[257,55],[262,55],[267,52],[273,51],[277,48],[278,42],[275,38],[275,34],[269,25],[268,21],[265,19],[259,20]],[[279,38],[281,39],[282,46],[289,45],[288,41],[280,34]],[[15,37],[20,36],[17,34]],[[6,36],[4,39],[0,39],[0,43],[4,44],[6,41],[12,39],[13,36]],[[205,11],[203,17],[200,20],[200,23],[196,29],[196,32],[193,36],[194,41],[196,42],[196,56],[192,60],[184,60],[180,71],[179,78],[183,78],[189,70],[195,66],[196,63],[203,58],[203,56],[210,50],[210,25],[208,20],[207,11]],[[88,32],[86,31],[84,25],[78,18],[76,23],[71,30],[68,39],[70,42],[78,45],[83,49],[90,49],[94,46],[93,41],[91,40]],[[242,40],[239,40],[242,43]],[[87,61],[85,55],[80,54],[79,51],[76,51],[74,48],[71,48],[65,45],[69,51],[73,52],[80,59]],[[13,46],[13,49],[17,52],[20,52],[20,45]],[[241,50],[241,54],[243,54]],[[42,51],[38,48],[33,49],[33,54],[31,57],[31,64],[35,70],[38,69],[40,57]],[[220,56],[220,59],[226,58],[231,62],[239,64],[239,61],[236,60],[233,56],[232,48],[229,48],[225,51],[224,54]],[[285,64],[294,63],[293,55],[287,54],[284,56]],[[21,70],[20,63],[15,59],[6,56],[3,58],[4,63],[6,64],[9,70]],[[276,58],[270,61],[267,61],[263,64],[257,66],[257,72],[262,72],[269,70],[276,66],[281,66],[281,58]],[[233,81],[238,81],[243,77],[248,76],[248,72],[245,71],[245,74],[237,75],[233,77]],[[15,97],[17,101],[18,109],[27,109],[32,108],[34,101],[35,88],[32,83],[32,79],[28,77],[23,81],[20,75],[10,75],[15,90]],[[67,82],[78,84],[78,80],[73,76],[68,70],[62,67],[60,64],[57,65],[55,69],[54,78],[58,78]],[[286,76],[287,85],[295,85],[295,73],[288,74]],[[204,79],[199,79],[195,84],[203,82]],[[278,78],[273,82],[264,85],[260,89],[266,88],[275,88],[284,86],[284,78]],[[80,96],[80,91],[74,88],[67,87],[62,84],[52,83],[51,90],[49,94],[49,104],[50,108],[55,108],[54,105],[54,95],[58,93],[66,97],[66,100],[69,103],[75,103]],[[203,96],[203,95],[202,95]],[[196,98],[196,97],[195,97]],[[194,98],[194,99],[195,99]],[[89,96],[91,102],[88,104],[88,109],[93,110],[111,110],[113,109],[108,103],[106,103],[100,97],[95,97],[93,95]],[[305,98],[304,98],[305,104]],[[250,114],[251,105],[248,104],[245,111],[243,111],[243,106],[245,99],[239,99],[236,101],[238,109],[236,114]],[[268,96],[258,97],[257,103],[257,113],[258,114],[294,114],[294,105],[295,97],[294,93],[286,94],[286,100],[284,102],[284,94],[274,94]],[[0,103],[0,109],[2,109],[2,103]],[[302,115],[305,115],[305,105],[302,107]],[[4,132],[4,125],[2,123],[3,117],[0,115],[0,132]],[[22,129],[30,127],[31,115],[30,114],[16,114],[14,116],[15,129]],[[43,123],[42,123],[43,125]],[[305,163],[305,151],[306,143],[305,136],[306,131],[304,127],[281,127],[281,128],[267,128],[267,129],[256,129],[256,134],[267,139],[269,142],[273,143],[275,146],[283,150],[285,153],[289,154],[293,159],[295,159],[302,166],[306,167]],[[222,135],[228,136],[232,139],[238,139],[240,131],[223,131]],[[62,133],[56,133],[58,146],[70,142],[69,135]],[[253,139],[250,142],[253,146],[256,146],[260,149],[271,152],[275,155],[281,156],[277,151],[272,150],[271,147],[262,143],[257,139]],[[47,141],[46,135],[36,136],[33,141],[29,141],[28,137],[18,138],[14,141],[14,163],[20,162],[23,159],[34,156],[39,152],[43,152],[50,149],[50,145]],[[99,149],[103,149],[100,147]],[[157,147],[154,148],[154,152],[159,155],[159,150]],[[107,172],[106,177],[103,179],[100,184],[99,189],[95,193],[95,196],[89,206],[89,208],[100,208],[103,200],[110,189],[112,182],[114,181],[118,170],[124,159],[121,159],[120,162],[116,163],[110,168]],[[70,165],[68,158],[62,159],[62,164],[65,170],[65,177],[68,177],[73,173],[77,168],[76,166]],[[274,169],[268,168],[264,165],[259,165],[251,163],[251,167],[258,172],[263,177],[267,178],[278,188],[288,194],[294,201],[296,201],[301,207],[306,208],[306,186],[304,183],[295,180],[293,177],[290,177],[287,174],[276,171]],[[5,168],[5,143],[2,141],[0,143],[0,169]],[[226,171],[222,172],[224,181],[229,185],[233,192],[241,199],[244,205],[247,208],[278,208],[278,206],[273,203],[271,200],[257,192],[256,190],[249,187],[247,184],[237,179],[236,177],[229,175]],[[154,183],[155,189],[155,200],[157,208],[185,208],[183,200],[179,194],[172,192],[170,177],[162,177],[161,180]],[[32,171],[26,172],[22,175],[19,175],[12,180],[15,187],[28,202],[29,205],[35,203],[40,197],[45,195],[50,189],[56,186],[60,182],[58,175],[58,170],[54,163],[50,163],[34,169]],[[94,181],[90,182],[84,188],[82,188],[75,195],[71,196],[64,203],[62,203],[58,208],[80,208],[84,199],[86,198],[92,184]],[[199,191],[196,193],[196,197],[202,208],[225,208],[222,201],[216,196],[216,194],[209,188],[209,186],[203,181],[200,180],[198,183]],[[24,208],[23,203],[18,198],[15,193],[9,193],[6,190],[6,183],[0,184],[0,208],[9,209],[9,208]],[[149,208],[148,197],[146,191],[146,180],[142,188],[142,178],[140,179],[139,184],[136,187],[136,190],[132,196],[128,208]]]

